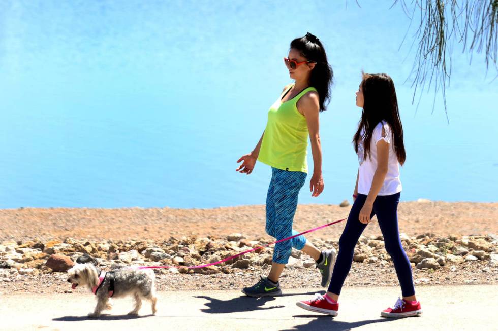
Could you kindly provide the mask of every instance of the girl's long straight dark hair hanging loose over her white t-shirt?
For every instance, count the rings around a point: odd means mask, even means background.
[[[358,130],[353,137],[355,151],[358,153],[358,143],[363,139],[363,159],[366,159],[367,156],[370,158],[372,133],[377,124],[385,121],[392,131],[392,143],[398,162],[403,165],[407,159],[407,154],[404,151],[403,126],[399,118],[394,82],[386,73],[362,72],[362,75],[361,90],[364,103]]]

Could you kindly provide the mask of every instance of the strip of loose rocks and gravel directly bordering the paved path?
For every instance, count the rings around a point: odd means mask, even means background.
[[[416,285],[498,283],[498,236],[401,234],[412,263]],[[310,239],[321,249],[338,249],[337,240]],[[64,272],[76,262],[116,266],[165,265],[155,269],[159,290],[236,289],[255,282],[271,265],[273,247],[261,248],[225,263],[188,269],[222,260],[271,242],[233,233],[226,237],[170,237],[167,240],[4,241],[0,244],[0,293],[72,292]],[[283,278],[284,288],[318,287],[315,263],[293,250]],[[382,236],[362,236],[346,286],[397,286],[397,278]],[[83,291],[83,289],[77,289]]]

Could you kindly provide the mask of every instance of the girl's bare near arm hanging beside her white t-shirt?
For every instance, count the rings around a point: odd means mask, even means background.
[[[382,136],[385,137],[384,128],[382,128]],[[382,188],[384,179],[386,178],[389,162],[389,143],[384,139],[377,141],[377,169],[374,174],[374,179],[372,180],[372,186],[368,196],[366,198],[365,204],[360,211],[360,222],[367,224],[370,222],[370,215],[372,209],[374,208],[374,201]]]

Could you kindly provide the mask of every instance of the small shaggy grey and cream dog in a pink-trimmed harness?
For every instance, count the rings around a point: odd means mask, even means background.
[[[98,317],[103,310],[109,310],[112,305],[110,297],[124,297],[132,295],[135,298],[135,308],[129,315],[138,315],[142,306],[142,299],[150,300],[152,313],[155,314],[155,304],[158,299],[155,296],[155,275],[150,269],[120,268],[111,272],[103,272],[91,263],[75,264],[68,270],[68,282],[75,289],[84,285],[97,297],[95,311],[88,314],[89,317]]]

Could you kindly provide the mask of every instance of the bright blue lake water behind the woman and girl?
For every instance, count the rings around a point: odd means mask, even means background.
[[[361,69],[396,83],[401,200],[497,201],[495,72],[455,44],[450,124],[440,94],[433,114],[432,91],[417,109],[404,83],[414,27],[400,47],[410,20],[391,3],[0,2],[0,208],[264,204],[270,168],[246,176],[235,161],[291,82],[282,58],[307,31],[335,83],[320,116],[325,190],[312,198],[306,183],[300,203],[351,197]]]

